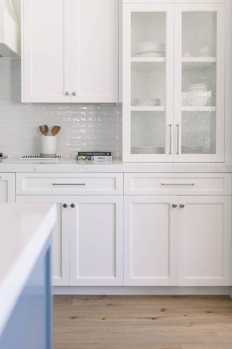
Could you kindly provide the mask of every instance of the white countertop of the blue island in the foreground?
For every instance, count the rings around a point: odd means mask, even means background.
[[[0,335],[55,221],[52,205],[0,204]]]

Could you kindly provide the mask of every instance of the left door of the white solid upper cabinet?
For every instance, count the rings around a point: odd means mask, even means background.
[[[70,3],[22,0],[22,102],[71,102]]]

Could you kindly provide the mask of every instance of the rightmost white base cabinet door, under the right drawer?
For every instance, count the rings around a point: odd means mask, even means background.
[[[179,196],[178,285],[231,286],[231,196]]]

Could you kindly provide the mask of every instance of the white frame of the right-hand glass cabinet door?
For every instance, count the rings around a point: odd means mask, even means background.
[[[217,12],[217,72],[216,72],[216,154],[181,154],[182,110],[197,110],[196,107],[182,108],[182,13]],[[174,40],[174,161],[175,162],[223,162],[225,138],[225,4],[189,3],[175,5]],[[204,110],[214,110],[204,107]],[[177,125],[179,127],[179,153],[177,149]]]

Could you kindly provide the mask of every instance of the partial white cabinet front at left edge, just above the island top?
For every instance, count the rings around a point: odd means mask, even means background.
[[[14,173],[0,173],[0,203],[15,203]]]

